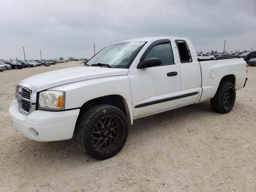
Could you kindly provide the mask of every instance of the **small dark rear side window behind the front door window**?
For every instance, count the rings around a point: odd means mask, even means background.
[[[176,40],[176,45],[178,47],[178,51],[180,54],[180,62],[187,63],[192,62],[190,50],[188,49],[188,45],[184,40]]]

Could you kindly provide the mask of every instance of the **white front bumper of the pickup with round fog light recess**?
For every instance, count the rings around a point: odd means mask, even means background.
[[[12,127],[35,141],[71,139],[80,109],[60,112],[36,110],[28,116],[20,113],[15,101],[10,104]]]

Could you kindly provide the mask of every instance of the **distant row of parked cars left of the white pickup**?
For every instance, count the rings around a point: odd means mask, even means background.
[[[22,69],[27,67],[51,66],[55,63],[63,63],[74,60],[25,60],[25,61],[0,61],[0,71],[9,69]]]

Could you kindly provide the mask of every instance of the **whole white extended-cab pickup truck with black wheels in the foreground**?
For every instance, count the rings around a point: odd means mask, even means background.
[[[32,140],[74,135],[102,160],[122,149],[135,119],[209,99],[214,111],[227,113],[246,80],[242,58],[201,64],[188,38],[138,38],[104,48],[86,66],[22,80],[9,114]]]

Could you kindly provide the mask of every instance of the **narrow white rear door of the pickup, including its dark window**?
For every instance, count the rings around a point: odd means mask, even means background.
[[[185,40],[176,40],[178,62],[180,64],[180,91],[182,98],[180,106],[193,103],[200,93],[200,66],[192,60],[192,46]],[[204,54],[203,54],[204,55]]]

